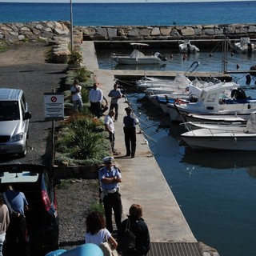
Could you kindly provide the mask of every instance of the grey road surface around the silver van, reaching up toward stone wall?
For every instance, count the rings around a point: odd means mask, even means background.
[[[2,162],[44,163],[50,162],[46,149],[52,122],[44,121],[44,93],[58,88],[66,77],[64,64],[45,62],[48,48],[40,43],[30,43],[18,49],[0,54],[0,87],[24,90],[32,118],[28,139],[28,154],[25,158],[0,155]],[[48,150],[50,151],[50,150]]]

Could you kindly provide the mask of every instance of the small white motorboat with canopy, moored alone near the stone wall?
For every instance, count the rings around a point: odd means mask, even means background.
[[[156,52],[154,55],[143,54],[142,47],[149,46],[146,43],[131,42],[130,45],[134,47],[134,50],[130,55],[111,54],[111,58],[114,59],[114,61],[118,64],[127,65],[164,64],[164,62],[167,60],[158,52]]]

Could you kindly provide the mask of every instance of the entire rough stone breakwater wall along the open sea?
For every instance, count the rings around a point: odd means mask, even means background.
[[[177,39],[256,38],[256,24],[195,26],[74,26],[74,34],[83,40],[136,41]],[[70,22],[0,23],[0,41],[14,42],[44,38],[70,38]],[[81,38],[82,37],[82,38]]]

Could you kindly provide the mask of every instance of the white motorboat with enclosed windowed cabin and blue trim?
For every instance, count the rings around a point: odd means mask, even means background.
[[[256,110],[256,99],[246,97],[235,82],[218,82],[202,89],[197,102],[167,104],[172,121],[182,121],[181,114],[237,115]]]

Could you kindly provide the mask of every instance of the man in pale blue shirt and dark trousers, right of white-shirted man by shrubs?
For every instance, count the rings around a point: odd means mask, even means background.
[[[89,92],[89,101],[90,101],[90,111],[92,114],[97,116],[97,118],[101,117],[102,110],[101,104],[103,100],[102,90],[98,88],[98,82],[94,82],[94,86],[90,89]]]

